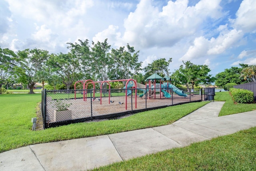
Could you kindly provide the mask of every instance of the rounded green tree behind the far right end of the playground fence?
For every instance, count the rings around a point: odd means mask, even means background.
[[[179,70],[172,74],[172,78],[178,84],[185,84],[189,89],[189,84],[194,88],[194,85],[197,86],[199,83],[210,84],[214,82],[215,78],[208,74],[210,71],[210,68],[206,65],[196,65],[190,61],[183,61]]]

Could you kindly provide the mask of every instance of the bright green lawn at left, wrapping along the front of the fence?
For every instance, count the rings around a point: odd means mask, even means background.
[[[36,117],[36,106],[40,101],[41,94],[0,95],[0,152],[30,144],[92,137],[167,125],[208,103],[205,101],[188,103],[141,112],[123,119],[76,123],[40,131],[31,131],[31,118]]]

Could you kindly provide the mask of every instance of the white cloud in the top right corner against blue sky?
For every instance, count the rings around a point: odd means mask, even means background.
[[[234,27],[244,32],[256,32],[256,1],[243,0],[236,12]]]

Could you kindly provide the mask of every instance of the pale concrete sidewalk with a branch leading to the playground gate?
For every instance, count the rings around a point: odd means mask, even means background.
[[[218,117],[223,104],[220,101],[208,103],[171,125],[6,151],[0,153],[0,170],[93,169],[256,126],[256,111]]]

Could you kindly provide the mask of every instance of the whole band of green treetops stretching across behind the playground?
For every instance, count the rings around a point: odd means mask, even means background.
[[[142,67],[139,52],[133,46],[126,44],[119,48],[111,48],[108,39],[103,42],[78,40],[68,43],[66,54],[49,54],[46,50],[25,49],[14,53],[9,49],[0,48],[0,87],[13,83],[23,83],[33,92],[36,82],[41,82],[56,89],[70,89],[77,80],[92,79],[95,81],[136,79],[144,83],[145,78],[156,73],[162,77],[170,77],[172,58],[154,60],[148,66]],[[184,84],[192,88],[198,84],[215,84],[224,87],[227,83],[241,84],[256,81],[256,66],[240,64],[241,68],[231,67],[216,75],[209,74],[206,65],[196,65],[190,61],[184,62],[178,70],[172,73],[172,82]],[[140,71],[143,71],[142,74]],[[60,82],[62,83],[61,85]],[[104,86],[104,85],[103,85]],[[104,88],[104,87],[103,87]]]

